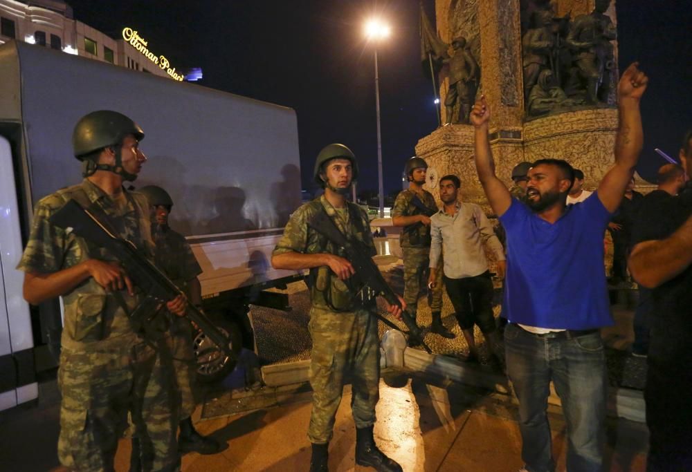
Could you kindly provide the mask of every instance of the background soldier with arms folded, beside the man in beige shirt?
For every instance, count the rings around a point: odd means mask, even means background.
[[[432,211],[437,211],[435,197],[423,188],[426,183],[426,171],[428,163],[421,158],[410,158],[406,162],[406,177],[408,189],[397,195],[392,208],[392,223],[394,226],[402,226],[403,232],[399,238],[399,245],[403,250],[403,299],[406,301],[406,312],[403,313],[403,321],[409,331],[408,343],[417,346],[421,343],[422,334],[416,323],[418,311],[418,296],[421,284],[428,279],[428,265],[430,263],[430,214],[426,215],[421,206]],[[422,205],[416,206],[414,200]],[[441,264],[440,266],[441,267]],[[437,283],[429,289],[430,310],[432,310],[432,325],[430,330],[442,337],[451,339],[454,334],[442,324],[442,271],[437,272]]]

